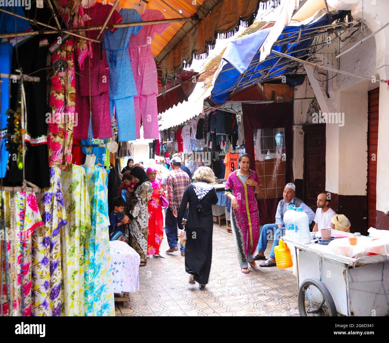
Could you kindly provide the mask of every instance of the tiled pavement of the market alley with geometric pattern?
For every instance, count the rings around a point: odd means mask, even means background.
[[[268,256],[271,242],[265,255]],[[164,237],[161,251],[168,244]],[[214,225],[212,268],[204,290],[188,283],[179,252],[149,258],[140,267],[140,291],[127,308],[116,303],[117,316],[296,316],[297,281],[289,270],[249,269],[240,272],[231,233]],[[257,264],[259,262],[257,261]]]

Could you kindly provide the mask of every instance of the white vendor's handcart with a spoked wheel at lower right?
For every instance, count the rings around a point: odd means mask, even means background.
[[[389,256],[358,259],[328,253],[328,246],[282,238],[294,249],[300,316],[389,314]]]

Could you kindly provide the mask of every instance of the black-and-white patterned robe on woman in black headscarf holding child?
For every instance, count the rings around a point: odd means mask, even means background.
[[[147,230],[149,227],[148,202],[152,194],[149,181],[143,182],[135,189],[133,196],[127,201],[127,210],[133,217],[130,221],[126,239],[130,246],[140,255],[140,262],[147,263]]]

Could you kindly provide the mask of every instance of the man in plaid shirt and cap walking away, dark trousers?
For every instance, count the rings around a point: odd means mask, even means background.
[[[170,161],[172,171],[166,178],[166,186],[169,200],[169,207],[166,209],[165,232],[170,249],[166,253],[177,251],[177,210],[180,207],[182,196],[187,185],[191,183],[188,174],[181,169],[182,160],[180,157],[173,157]],[[186,216],[184,216],[186,217]],[[185,248],[180,247],[181,256],[185,255]]]

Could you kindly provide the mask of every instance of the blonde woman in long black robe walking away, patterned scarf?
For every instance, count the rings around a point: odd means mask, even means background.
[[[189,203],[185,224],[185,270],[190,274],[189,283],[196,281],[200,287],[208,283],[212,262],[212,205],[217,203],[214,182],[212,169],[199,167],[193,175],[193,183],[185,189],[177,216],[178,226],[183,229],[182,218]]]

